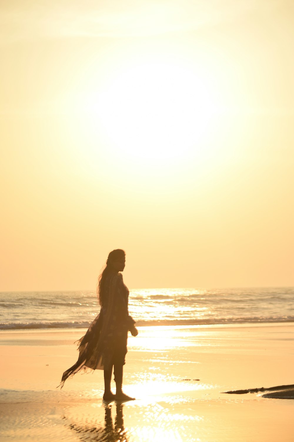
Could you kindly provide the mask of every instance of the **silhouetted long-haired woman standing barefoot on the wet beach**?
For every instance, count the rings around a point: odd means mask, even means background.
[[[63,373],[61,388],[66,379],[79,370],[89,367],[104,370],[104,400],[133,400],[123,393],[123,366],[126,363],[127,334],[138,335],[135,321],[129,315],[129,290],[123,283],[122,272],[126,254],[121,249],[112,250],[106,267],[100,274],[97,294],[100,314],[93,320],[86,335],[79,342],[78,361]],[[112,368],[116,384],[115,395],[111,391]]]

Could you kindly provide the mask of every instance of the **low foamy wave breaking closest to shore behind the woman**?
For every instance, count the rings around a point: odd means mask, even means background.
[[[28,322],[28,323],[0,323],[0,330],[34,330],[45,328],[88,328],[92,321],[65,321],[65,322]],[[265,324],[294,322],[294,316],[268,316],[268,317],[239,317],[239,318],[205,318],[205,319],[183,319],[183,320],[138,320],[136,325],[217,325],[217,324]]]

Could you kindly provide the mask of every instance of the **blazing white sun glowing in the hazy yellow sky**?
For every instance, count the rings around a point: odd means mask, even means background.
[[[218,113],[216,91],[205,75],[160,60],[120,69],[86,101],[108,149],[129,163],[201,156]]]

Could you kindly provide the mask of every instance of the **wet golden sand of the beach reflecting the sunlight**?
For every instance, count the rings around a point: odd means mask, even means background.
[[[56,386],[85,330],[1,333],[2,441],[293,441],[294,324],[145,327],[129,338],[124,390],[103,372]],[[113,385],[115,389],[115,385]],[[225,394],[233,390],[261,391]],[[281,399],[284,397],[285,399]]]

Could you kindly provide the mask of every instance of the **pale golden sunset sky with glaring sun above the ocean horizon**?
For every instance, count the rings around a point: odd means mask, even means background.
[[[2,0],[0,290],[294,286],[294,2]]]

